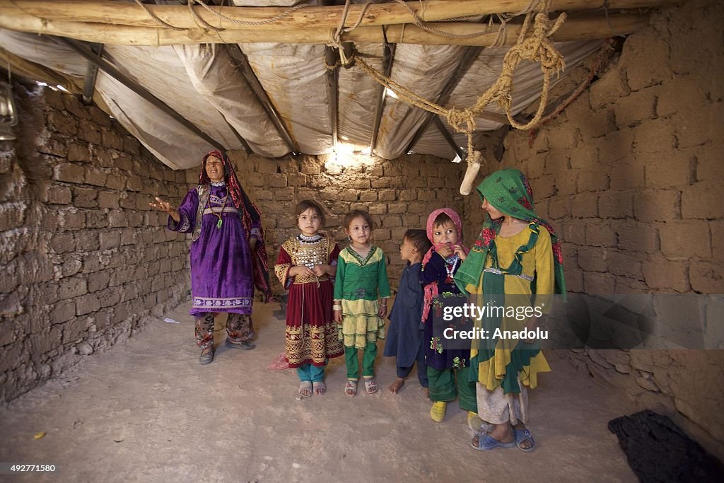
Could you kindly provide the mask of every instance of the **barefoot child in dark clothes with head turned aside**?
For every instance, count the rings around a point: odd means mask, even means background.
[[[405,377],[411,373],[415,363],[420,385],[427,387],[423,327],[420,323],[424,298],[420,269],[422,257],[431,246],[425,230],[407,230],[400,245],[400,256],[407,266],[400,278],[395,305],[390,311],[390,329],[384,344],[384,356],[396,358],[397,378],[388,387],[395,394],[405,385]]]

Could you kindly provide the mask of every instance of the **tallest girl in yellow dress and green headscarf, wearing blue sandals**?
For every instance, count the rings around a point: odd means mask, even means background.
[[[477,382],[478,414],[494,429],[473,437],[471,445],[528,452],[535,442],[525,426],[526,386],[536,387],[537,374],[550,367],[538,340],[501,334],[535,329],[539,314],[552,306],[550,295],[565,295],[560,242],[534,211],[533,192],[518,169],[493,172],[477,190],[488,216],[455,283],[479,308],[487,308],[477,324],[489,338],[473,341],[471,377]]]

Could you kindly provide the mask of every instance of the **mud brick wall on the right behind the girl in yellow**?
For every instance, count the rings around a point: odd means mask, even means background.
[[[505,134],[500,164],[489,164],[531,180],[537,211],[563,238],[569,291],[724,293],[722,18],[721,2],[703,0],[655,14],[535,138]],[[552,98],[587,71],[571,74]],[[477,199],[466,201],[466,215],[479,226]],[[673,317],[698,316],[681,309]],[[721,322],[710,316],[707,330],[720,333]],[[724,442],[724,351],[566,356],[642,407],[679,413]]]

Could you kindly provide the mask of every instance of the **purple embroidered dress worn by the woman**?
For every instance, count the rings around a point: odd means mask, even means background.
[[[194,232],[191,243],[190,314],[231,312],[251,314],[254,294],[252,254],[240,212],[228,196],[225,182],[211,182],[208,202],[202,211],[201,230],[196,227],[198,188],[192,188],[179,206],[181,221],[169,217],[174,232]],[[206,187],[204,187],[206,188]],[[221,217],[221,226],[219,224]],[[259,238],[260,222],[251,225],[251,236]],[[196,230],[194,230],[196,228]]]

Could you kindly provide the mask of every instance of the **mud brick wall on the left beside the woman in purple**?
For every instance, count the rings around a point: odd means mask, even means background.
[[[184,173],[74,96],[14,91],[18,139],[0,142],[0,400],[134,334],[189,284],[185,238],[148,210],[180,195]]]

